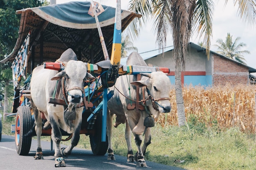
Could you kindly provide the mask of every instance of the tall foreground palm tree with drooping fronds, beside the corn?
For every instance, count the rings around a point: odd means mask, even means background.
[[[227,1],[225,0],[226,4]],[[256,0],[234,0],[235,4],[238,4],[240,18],[252,25],[256,23]],[[167,34],[172,31],[178,124],[185,125],[181,72],[185,65],[187,45],[192,31],[197,31],[200,37],[204,37],[203,42],[207,47],[206,53],[209,58],[214,2],[213,0],[130,0],[129,9],[146,15],[142,17],[143,21],[153,15],[159,48],[164,49]],[[134,34],[137,34],[141,22],[139,26],[134,25],[131,24]]]

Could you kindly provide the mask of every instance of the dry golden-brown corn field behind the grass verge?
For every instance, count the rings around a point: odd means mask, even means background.
[[[186,121],[193,117],[206,126],[236,126],[244,132],[255,132],[255,93],[256,86],[253,85],[186,86],[183,88]],[[174,88],[170,97],[171,113],[163,113],[157,121],[162,126],[178,125]]]

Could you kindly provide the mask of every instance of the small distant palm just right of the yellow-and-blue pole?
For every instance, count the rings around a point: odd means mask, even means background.
[[[138,52],[137,47],[133,46],[133,43],[130,41],[130,36],[126,35],[121,38],[121,57],[127,57],[128,51]]]

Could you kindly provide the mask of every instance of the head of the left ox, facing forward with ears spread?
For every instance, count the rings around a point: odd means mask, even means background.
[[[78,104],[83,100],[84,82],[87,79],[95,79],[90,73],[87,73],[87,63],[81,61],[70,60],[64,62],[65,69],[51,80],[61,79],[65,77],[66,92],[68,94],[67,101],[70,104]],[[70,106],[69,106],[70,107]]]

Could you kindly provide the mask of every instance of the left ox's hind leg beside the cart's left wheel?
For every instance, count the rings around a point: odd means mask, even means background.
[[[35,117],[35,123],[36,123],[35,131],[36,131],[36,138],[37,138],[36,155],[34,156],[34,158],[38,160],[38,159],[43,159],[43,152],[41,147],[42,119],[40,117],[40,112],[36,108],[32,99],[31,99],[31,106],[33,109],[34,117]]]

